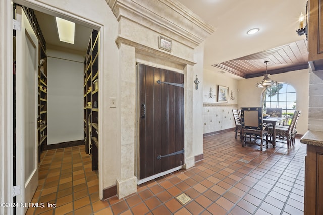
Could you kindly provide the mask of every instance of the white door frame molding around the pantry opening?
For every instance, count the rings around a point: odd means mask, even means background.
[[[0,23],[2,24],[4,31],[0,32],[3,40],[0,41],[0,53],[2,53],[3,61],[0,63],[0,199],[2,202],[13,202],[13,76],[12,73],[8,71],[13,71],[13,3],[24,5],[32,9],[47,13],[50,15],[63,15],[70,20],[73,20],[77,23],[81,23],[89,28],[99,31],[100,34],[100,52],[103,53],[103,36],[102,32],[104,31],[104,26],[99,23],[88,20],[83,17],[79,17],[75,14],[63,11],[60,8],[55,8],[45,3],[36,1],[36,0],[5,0],[0,7]],[[103,54],[99,55],[99,70],[103,71]],[[103,73],[99,73],[99,82],[103,80]],[[100,90],[103,89],[103,82],[99,83]],[[102,91],[103,92],[103,91]],[[99,94],[100,101],[103,101],[102,93]],[[99,105],[102,106],[103,102],[100,102]],[[102,120],[100,120],[99,125],[99,138],[102,135]],[[101,138],[102,139],[102,138]],[[102,153],[103,150],[99,150],[99,165],[102,166]],[[99,197],[103,198],[103,176],[99,174]],[[13,208],[0,208],[1,214],[13,214]]]

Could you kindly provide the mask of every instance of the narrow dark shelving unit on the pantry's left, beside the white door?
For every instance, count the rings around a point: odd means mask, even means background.
[[[38,160],[47,146],[47,55],[39,43],[38,59]]]

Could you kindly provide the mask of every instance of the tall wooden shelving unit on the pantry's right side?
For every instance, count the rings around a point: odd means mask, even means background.
[[[92,154],[92,170],[98,169],[98,114],[99,114],[99,34],[93,30],[84,59],[84,144]]]

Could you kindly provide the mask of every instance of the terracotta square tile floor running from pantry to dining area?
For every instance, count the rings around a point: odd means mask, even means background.
[[[48,150],[41,156],[33,202],[27,214],[303,214],[306,145],[275,149],[241,146],[234,132],[203,138],[204,160],[137,187],[122,199],[98,199],[97,172],[84,146]],[[185,205],[176,197],[186,194]]]

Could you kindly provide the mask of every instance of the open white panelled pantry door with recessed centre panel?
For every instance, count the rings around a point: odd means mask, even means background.
[[[17,195],[17,214],[27,208],[38,186],[37,156],[37,74],[38,39],[21,7],[17,6],[16,30],[16,179],[21,194]]]

